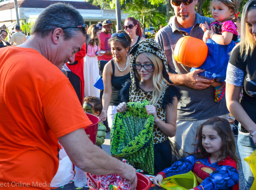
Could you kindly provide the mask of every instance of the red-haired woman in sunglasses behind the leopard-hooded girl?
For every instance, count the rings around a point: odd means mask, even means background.
[[[140,23],[134,17],[128,17],[125,19],[124,29],[131,37],[131,48],[136,45],[139,40],[146,39],[145,37],[142,37]]]

